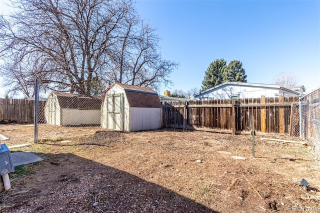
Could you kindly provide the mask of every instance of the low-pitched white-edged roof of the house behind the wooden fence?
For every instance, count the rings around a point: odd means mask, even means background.
[[[226,81],[224,83],[221,83],[219,85],[213,86],[211,88],[208,88],[204,91],[200,91],[194,94],[194,96],[198,96],[200,94],[215,90],[219,87],[222,87],[224,85],[240,85],[240,86],[252,86],[252,87],[264,87],[264,88],[276,88],[276,89],[282,89],[284,91],[288,91],[294,94],[299,95],[301,92],[298,92],[296,90],[290,89],[289,87],[286,86],[281,86],[281,85],[275,85],[275,84],[266,84],[266,83],[247,83],[247,82],[230,82],[230,81]]]

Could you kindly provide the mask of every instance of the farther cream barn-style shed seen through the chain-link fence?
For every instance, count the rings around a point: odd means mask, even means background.
[[[44,107],[45,120],[53,125],[100,125],[102,97],[51,92]]]

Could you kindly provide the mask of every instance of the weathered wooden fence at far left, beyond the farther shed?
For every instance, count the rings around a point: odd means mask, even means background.
[[[45,101],[39,101],[39,116],[44,117]],[[0,120],[9,119],[17,123],[33,123],[34,100],[0,98]],[[44,122],[40,121],[39,122]]]

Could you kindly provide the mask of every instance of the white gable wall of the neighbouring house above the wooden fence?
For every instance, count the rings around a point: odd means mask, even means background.
[[[275,94],[286,94],[287,96],[296,95],[291,92],[282,91],[277,88],[240,86],[240,85],[224,85],[213,91],[207,91],[197,96],[197,99],[227,99],[231,95],[238,95],[239,98],[257,98],[264,95],[265,97],[274,97]]]

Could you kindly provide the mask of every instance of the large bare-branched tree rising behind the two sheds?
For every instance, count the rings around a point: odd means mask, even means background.
[[[174,61],[158,52],[155,29],[131,0],[19,0],[0,17],[1,74],[10,91],[44,88],[97,94],[112,82],[156,89]]]

